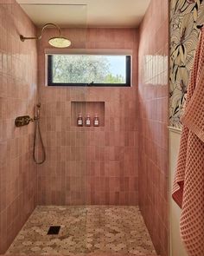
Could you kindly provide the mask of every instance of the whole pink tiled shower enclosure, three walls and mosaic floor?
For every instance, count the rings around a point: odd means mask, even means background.
[[[22,43],[40,30],[0,0],[0,253],[168,255],[168,30],[166,0],[150,1],[137,29],[62,29],[71,49],[129,53],[132,86],[45,86],[54,30]],[[33,123],[14,125],[37,102],[39,166]],[[100,126],[77,127],[79,112]]]

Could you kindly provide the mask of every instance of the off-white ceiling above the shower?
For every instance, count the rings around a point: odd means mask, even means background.
[[[16,0],[37,26],[135,28],[150,0]]]

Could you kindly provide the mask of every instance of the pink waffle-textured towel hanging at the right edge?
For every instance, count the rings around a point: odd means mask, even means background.
[[[182,208],[180,231],[189,256],[204,256],[204,28],[188,84],[173,199]]]

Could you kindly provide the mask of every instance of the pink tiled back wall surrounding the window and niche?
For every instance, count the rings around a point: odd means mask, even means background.
[[[132,50],[132,88],[46,87],[39,43],[41,129],[48,155],[38,168],[41,205],[137,205],[137,30],[62,30],[75,49]],[[71,102],[105,102],[105,126],[77,128]]]

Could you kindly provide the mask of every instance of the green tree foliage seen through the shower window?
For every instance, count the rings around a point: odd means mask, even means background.
[[[113,75],[105,56],[54,55],[53,82],[124,83],[123,75]]]

